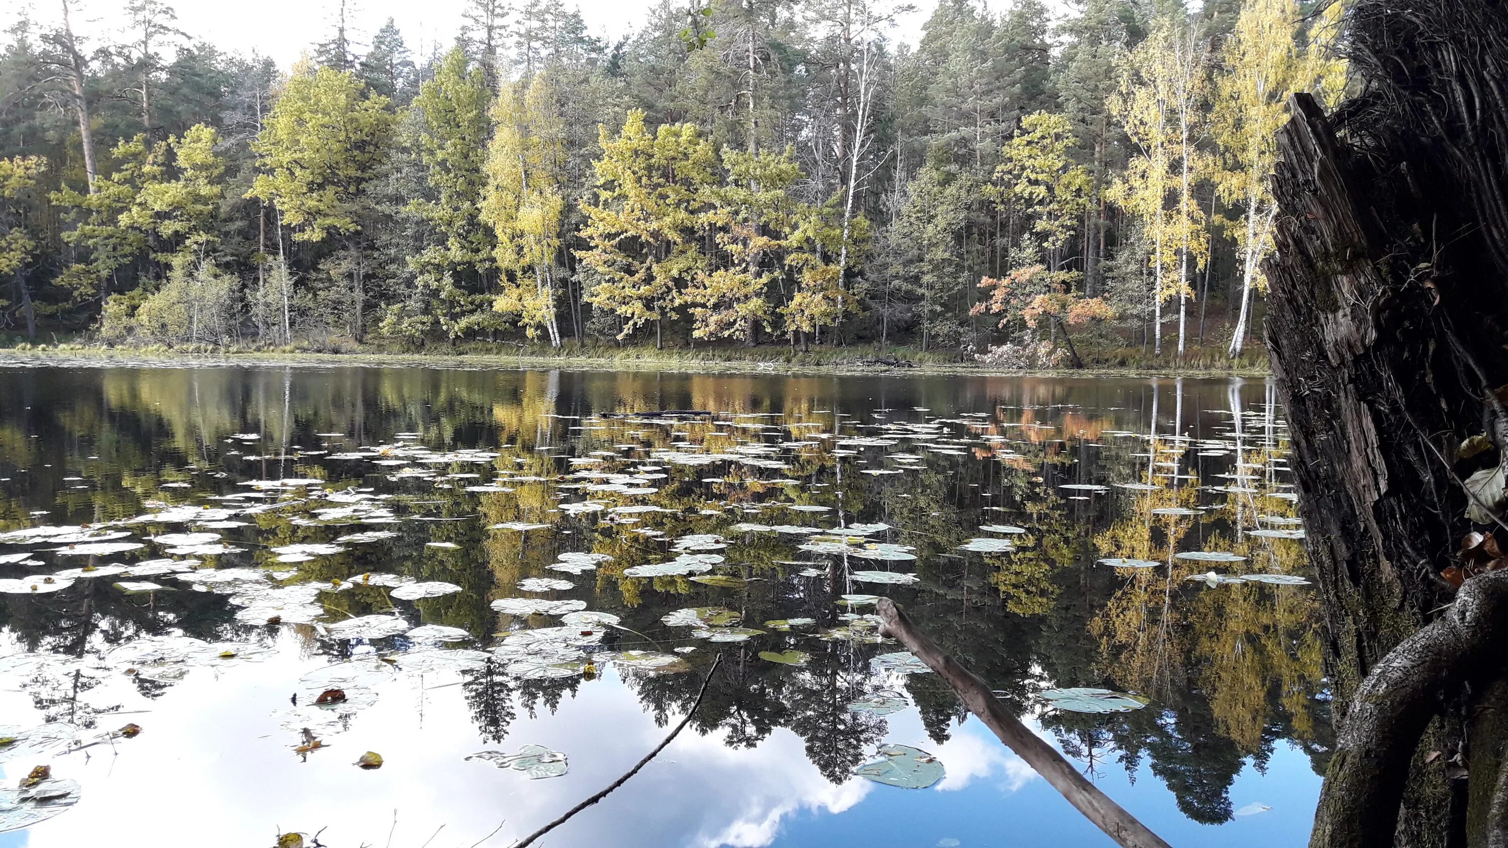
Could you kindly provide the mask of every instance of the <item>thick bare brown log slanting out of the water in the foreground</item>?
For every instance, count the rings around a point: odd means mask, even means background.
[[[918,631],[891,599],[881,598],[878,610],[884,620],[884,634],[894,637],[911,653],[915,653],[917,659],[926,662],[927,668],[947,681],[947,685],[953,687],[953,691],[962,699],[964,706],[977,715],[985,727],[989,727],[1006,747],[1062,792],[1069,804],[1084,813],[1084,818],[1105,831],[1105,836],[1114,839],[1116,845],[1122,848],[1170,848],[1158,834],[1084,779],[1078,768],[1057,753],[1053,745],[1012,715],[983,681]]]

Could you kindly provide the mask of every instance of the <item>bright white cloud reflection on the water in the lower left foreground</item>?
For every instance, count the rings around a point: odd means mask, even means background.
[[[609,674],[562,700],[555,714],[520,715],[501,745],[486,745],[470,723],[455,676],[404,676],[380,684],[375,706],[350,729],[324,736],[329,747],[300,762],[297,735],[274,714],[288,705],[296,681],[323,665],[282,640],[264,662],[219,671],[196,670],[157,699],[112,681],[107,700],[127,711],[143,733],[53,760],[54,773],[83,785],[83,801],[68,813],[0,845],[74,848],[164,843],[271,845],[279,830],[314,833],[332,846],[469,846],[498,827],[484,845],[508,845],[617,779],[668,727],[645,715],[635,693]],[[421,688],[422,684],[422,688]],[[8,718],[35,715],[24,700],[0,699]],[[101,729],[113,726],[104,717]],[[988,735],[959,729],[944,745],[926,739],[915,711],[891,717],[888,741],[933,750],[949,770],[938,786],[961,789],[997,774],[1019,788],[1024,764]],[[722,733],[682,733],[659,759],[608,800],[556,830],[555,845],[636,848],[697,845],[756,848],[771,843],[792,813],[841,813],[870,792],[899,792],[854,779],[832,785],[804,756],[804,742],[777,729],[759,745],[736,750]],[[486,747],[517,750],[541,744],[566,751],[570,773],[528,780],[516,771],[463,757]],[[362,771],[365,750],[386,764]],[[35,764],[9,764],[6,776]],[[15,840],[20,839],[20,840]]]

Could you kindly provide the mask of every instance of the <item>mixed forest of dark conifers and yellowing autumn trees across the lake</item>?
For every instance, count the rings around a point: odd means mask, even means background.
[[[1286,100],[1347,84],[1295,0],[469,0],[427,54],[341,2],[291,68],[60,2],[0,54],[14,341],[1235,358]]]

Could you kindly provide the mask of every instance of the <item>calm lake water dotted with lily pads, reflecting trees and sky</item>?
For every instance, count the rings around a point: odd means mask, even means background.
[[[63,797],[0,791],[57,813],[0,846],[508,845],[715,655],[544,845],[1110,845],[885,656],[881,595],[1172,843],[1297,845],[1329,697],[1285,450],[1240,380],[5,368],[0,530],[60,530],[0,537],[0,786]],[[946,776],[855,777],[885,744]],[[466,759],[525,745],[569,771]]]

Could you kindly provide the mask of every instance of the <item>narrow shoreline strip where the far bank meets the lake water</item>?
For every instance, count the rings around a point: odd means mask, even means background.
[[[692,359],[670,356],[593,356],[587,353],[562,353],[559,356],[520,353],[514,356],[496,353],[290,353],[290,352],[231,352],[231,353],[175,353],[136,349],[106,347],[57,347],[57,349],[0,349],[0,368],[23,365],[72,365],[81,368],[211,368],[211,367],[368,367],[368,368],[454,368],[454,370],[508,370],[508,371],[673,371],[710,374],[801,374],[801,376],[974,376],[974,377],[1243,377],[1265,379],[1271,376],[1264,368],[1178,368],[1173,365],[1137,368],[1048,368],[1015,370],[967,362],[914,362],[911,365],[885,365],[866,362],[855,355],[854,361],[823,362],[820,359],[786,361],[759,358],[709,358]]]

